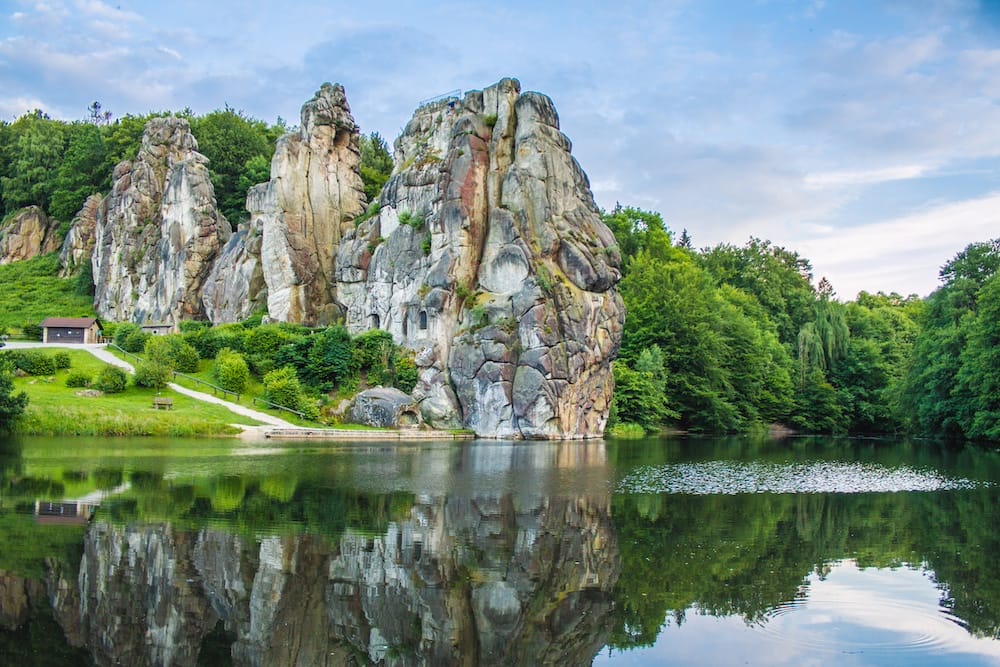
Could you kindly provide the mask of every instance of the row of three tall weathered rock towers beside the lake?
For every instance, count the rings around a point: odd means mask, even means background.
[[[324,84],[230,239],[186,121],[155,119],[97,208],[98,313],[221,323],[266,302],[273,320],[380,328],[414,350],[434,427],[599,437],[621,257],[570,148],[552,101],[504,79],[420,107],[366,212],[358,127]]]

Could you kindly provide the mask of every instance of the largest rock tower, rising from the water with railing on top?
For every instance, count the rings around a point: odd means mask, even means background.
[[[505,79],[421,107],[395,149],[379,214],[340,243],[348,328],[417,350],[434,426],[600,436],[621,257],[551,100]]]

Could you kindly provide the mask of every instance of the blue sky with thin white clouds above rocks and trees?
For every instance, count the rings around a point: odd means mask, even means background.
[[[771,240],[841,299],[925,296],[1000,237],[1000,0],[0,0],[7,121],[97,100],[295,125],[330,81],[391,143],[506,76],[552,98],[602,208]]]

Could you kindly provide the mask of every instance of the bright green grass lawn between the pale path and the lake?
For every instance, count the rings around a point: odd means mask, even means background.
[[[32,435],[226,435],[237,433],[232,424],[258,422],[219,405],[198,401],[169,389],[160,392],[173,399],[172,410],[153,408],[154,389],[129,385],[121,394],[78,396],[67,387],[70,371],[97,377],[104,362],[82,350],[70,350],[71,367],[52,377],[26,377],[14,381],[15,389],[28,394],[28,410],[16,431]]]

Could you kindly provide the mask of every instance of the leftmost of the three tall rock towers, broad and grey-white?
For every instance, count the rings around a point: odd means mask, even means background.
[[[188,122],[155,118],[135,160],[115,167],[93,256],[95,308],[116,321],[203,319],[200,292],[229,239],[207,158]]]

